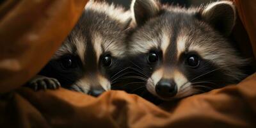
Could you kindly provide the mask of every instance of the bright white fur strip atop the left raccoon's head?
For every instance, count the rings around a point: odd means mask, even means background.
[[[84,7],[86,10],[94,10],[96,12],[105,13],[109,17],[118,20],[119,22],[125,23],[131,17],[130,11],[125,11],[121,6],[115,4],[108,4],[104,1],[93,1],[90,0]]]

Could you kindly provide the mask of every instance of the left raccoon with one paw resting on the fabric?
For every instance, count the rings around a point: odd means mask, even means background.
[[[131,12],[104,1],[89,1],[76,26],[29,86],[100,95],[125,56]]]

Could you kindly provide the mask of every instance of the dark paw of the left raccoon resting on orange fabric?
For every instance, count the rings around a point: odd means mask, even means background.
[[[47,89],[56,90],[60,88],[60,82],[51,77],[36,76],[29,81],[27,86],[35,91]]]

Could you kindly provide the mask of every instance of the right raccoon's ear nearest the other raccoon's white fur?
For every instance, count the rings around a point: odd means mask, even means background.
[[[146,20],[157,15],[159,3],[156,0],[132,0],[131,10],[134,15],[134,24],[140,26]]]

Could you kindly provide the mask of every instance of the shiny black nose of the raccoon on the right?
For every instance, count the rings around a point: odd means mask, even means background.
[[[177,93],[177,85],[173,80],[161,79],[156,84],[156,93],[161,97],[173,97]]]

